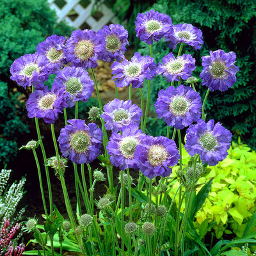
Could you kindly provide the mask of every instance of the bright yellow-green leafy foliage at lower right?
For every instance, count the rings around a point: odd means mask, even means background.
[[[182,161],[188,164],[189,155],[182,150]],[[178,170],[178,166],[173,168]],[[209,223],[216,221],[213,226],[216,237],[220,238],[225,234],[236,234],[241,237],[244,227],[250,216],[255,212],[256,206],[256,153],[250,151],[247,145],[232,142],[228,150],[228,157],[216,166],[207,166],[204,174],[197,182],[196,193],[210,179],[213,179],[211,191],[207,196],[204,205],[196,213],[198,226],[209,219]],[[173,197],[179,182],[175,182],[170,191]],[[177,203],[178,198],[176,198]],[[182,205],[184,209],[185,204]]]

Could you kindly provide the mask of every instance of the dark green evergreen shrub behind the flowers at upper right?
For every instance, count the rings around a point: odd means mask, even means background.
[[[256,2],[253,0],[158,0],[152,9],[170,15],[173,24],[191,23],[202,30],[204,36],[202,49],[195,52],[191,47],[185,47],[183,51],[192,54],[197,66],[202,63],[201,57],[209,55],[210,50],[223,49],[226,52],[236,52],[237,65],[240,68],[237,73],[237,82],[227,92],[211,92],[205,109],[207,119],[214,118],[223,123],[232,131],[235,140],[237,136],[241,136],[244,143],[255,148]],[[148,45],[141,43],[140,46],[144,54],[149,54]],[[159,42],[154,47],[154,57],[157,63],[168,52],[168,43]],[[199,76],[201,70],[196,68],[193,75]],[[152,81],[152,109],[154,109],[153,102],[156,100],[157,92],[166,87],[163,81],[163,78],[159,76]],[[205,86],[199,88],[204,93],[206,89]]]

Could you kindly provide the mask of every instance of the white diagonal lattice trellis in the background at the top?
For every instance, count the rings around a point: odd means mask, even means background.
[[[62,0],[64,3],[62,4],[62,8],[56,4],[58,3],[56,0],[48,0],[48,2],[50,7],[56,11],[58,22],[66,20],[70,26],[73,26],[77,29],[83,29],[84,24],[86,24],[86,27],[90,27],[90,29],[98,31],[106,24],[117,23],[114,13],[105,4],[100,4],[99,6],[101,16],[100,19],[94,19],[91,15],[93,4],[95,4],[94,0],[90,1],[91,3],[88,4],[88,6],[85,8],[80,4],[81,0]],[[74,20],[68,17],[68,14],[71,11],[76,13]]]

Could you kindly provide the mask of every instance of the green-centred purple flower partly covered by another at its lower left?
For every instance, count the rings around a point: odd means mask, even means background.
[[[84,68],[65,67],[55,77],[52,90],[56,92],[59,88],[65,88],[68,108],[71,108],[78,100],[83,102],[89,100],[92,96],[93,85],[94,82]]]

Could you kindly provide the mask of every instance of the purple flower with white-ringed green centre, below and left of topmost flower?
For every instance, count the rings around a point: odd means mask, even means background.
[[[143,57],[140,52],[135,52],[131,61],[124,58],[122,62],[114,62],[111,66],[112,79],[117,87],[125,87],[132,84],[132,88],[142,88],[144,78],[151,80],[156,76],[156,63],[150,56]]]

